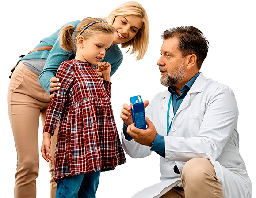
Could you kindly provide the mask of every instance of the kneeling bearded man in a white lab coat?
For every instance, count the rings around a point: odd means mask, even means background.
[[[153,151],[161,156],[162,182],[134,198],[251,198],[233,91],[199,71],[208,40],[193,26],[171,28],[161,38],[158,65],[168,89],[144,102],[147,129],[135,127],[129,105],[120,115],[127,156],[144,158]]]

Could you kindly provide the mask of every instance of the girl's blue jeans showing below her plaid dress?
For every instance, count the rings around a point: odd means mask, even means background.
[[[95,198],[100,171],[57,180],[55,198]]]

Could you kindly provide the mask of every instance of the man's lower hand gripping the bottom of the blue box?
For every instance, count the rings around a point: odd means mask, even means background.
[[[127,127],[127,133],[133,137],[135,142],[151,147],[156,138],[157,131],[153,123],[147,117],[146,124],[148,127],[146,130],[143,130],[135,127],[134,123],[132,123]]]

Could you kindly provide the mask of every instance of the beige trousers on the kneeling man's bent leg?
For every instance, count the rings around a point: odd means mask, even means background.
[[[194,158],[184,165],[183,188],[172,188],[161,198],[224,198],[222,185],[209,159]]]

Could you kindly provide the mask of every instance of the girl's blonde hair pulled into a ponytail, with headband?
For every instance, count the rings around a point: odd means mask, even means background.
[[[102,18],[93,18],[87,17],[84,18],[77,26],[67,25],[63,27],[59,32],[59,40],[61,48],[65,51],[76,51],[76,37],[80,34],[80,32],[85,28],[85,26],[89,25],[92,22],[103,21]],[[88,26],[83,33],[80,35],[84,37],[85,40],[89,40],[96,34],[114,34],[115,28],[105,22],[98,22]]]

